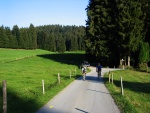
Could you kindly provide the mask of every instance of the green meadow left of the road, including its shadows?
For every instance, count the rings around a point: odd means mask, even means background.
[[[86,59],[84,52],[59,54],[44,50],[1,50],[0,55],[3,57],[0,56],[0,81],[7,81],[8,113],[35,113],[81,75],[79,64]],[[13,55],[10,51],[13,51]],[[32,57],[25,57],[31,54]],[[9,56],[23,59],[11,60],[12,57]],[[3,62],[5,57],[8,62]],[[61,78],[60,84],[57,80],[58,73]],[[42,94],[42,80],[45,82],[45,94]],[[2,89],[2,83],[0,88]],[[0,106],[1,113],[2,90]]]

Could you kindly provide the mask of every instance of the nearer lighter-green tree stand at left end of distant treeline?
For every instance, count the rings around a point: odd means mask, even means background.
[[[9,27],[0,27],[0,48],[12,49],[36,49],[37,33],[33,24],[29,28],[20,28],[14,25],[12,30]]]

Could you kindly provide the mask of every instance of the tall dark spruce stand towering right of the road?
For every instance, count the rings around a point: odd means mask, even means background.
[[[86,52],[105,65],[150,61],[150,0],[89,0]]]

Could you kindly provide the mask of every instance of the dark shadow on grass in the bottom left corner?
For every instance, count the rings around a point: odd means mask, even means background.
[[[2,89],[2,87],[0,87]],[[0,92],[0,113],[3,112],[3,93]],[[7,113],[35,113],[41,105],[36,100],[22,99],[16,92],[7,89]]]

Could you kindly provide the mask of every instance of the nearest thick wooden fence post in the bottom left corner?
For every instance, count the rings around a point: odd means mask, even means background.
[[[7,87],[5,80],[2,82],[2,86],[3,86],[3,113],[7,113]]]

